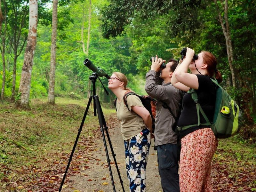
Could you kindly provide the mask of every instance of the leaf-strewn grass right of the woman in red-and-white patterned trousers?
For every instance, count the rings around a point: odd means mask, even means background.
[[[256,143],[243,140],[239,134],[220,139],[213,167],[217,170],[216,178],[227,179],[226,183],[219,183],[220,186],[234,186],[238,191],[256,190]]]

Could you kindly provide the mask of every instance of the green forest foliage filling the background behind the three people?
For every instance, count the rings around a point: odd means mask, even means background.
[[[10,10],[8,14],[11,14],[11,1],[6,2]],[[45,6],[49,1],[40,2]],[[83,43],[86,49],[89,1],[63,0],[60,4],[58,8],[56,96],[79,99],[87,96],[88,91],[92,91],[92,88],[88,87],[92,71],[83,64],[86,58],[89,58],[97,67],[104,69],[108,75],[114,71],[124,73],[129,79],[128,86],[135,92],[145,94],[144,81],[145,74],[150,69],[150,57],[158,55],[165,60],[178,59],[181,48],[189,46],[196,53],[205,50],[216,56],[217,68],[223,77],[223,87],[227,87],[232,98],[235,98],[244,110],[243,114],[246,114],[246,119],[250,120],[250,116],[256,114],[255,2],[228,1],[228,21],[234,56],[233,67],[238,89],[231,87],[226,40],[216,5],[212,1],[92,0],[88,54],[85,54],[82,48],[81,29],[84,24]],[[218,4],[220,5],[220,1]],[[19,4],[17,7],[22,10],[21,8],[25,5]],[[220,9],[224,17],[222,10]],[[40,5],[40,14],[43,12],[45,12],[44,19],[40,17],[37,29],[31,98],[46,97],[49,87],[52,10],[44,9]],[[9,17],[10,22],[13,17],[13,15]],[[3,29],[4,24],[2,31]],[[108,39],[104,39],[103,36]],[[6,46],[8,48],[6,50],[9,51],[5,55],[7,71],[5,97],[8,98],[11,96],[12,89],[13,52],[10,52],[9,44]],[[16,92],[19,87],[19,72],[23,65],[22,57],[23,52],[17,60]],[[0,66],[1,69],[2,66]],[[100,79],[105,86],[108,84],[105,77]],[[111,102],[115,97],[111,91],[110,95],[106,96],[99,81],[96,82],[96,87],[97,94],[104,102]]]

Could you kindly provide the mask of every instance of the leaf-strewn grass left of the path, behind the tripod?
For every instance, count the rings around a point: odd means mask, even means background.
[[[71,152],[87,102],[56,98],[52,106],[47,99],[35,99],[31,100],[31,110],[0,102],[0,191],[16,191],[8,186],[23,177],[36,177],[53,161],[60,160],[56,154]],[[104,115],[115,112],[102,110]],[[98,124],[91,106],[80,137],[92,136]]]

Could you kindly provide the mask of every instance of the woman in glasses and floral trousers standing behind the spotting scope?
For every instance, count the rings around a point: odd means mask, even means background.
[[[121,123],[124,139],[126,172],[130,182],[130,191],[146,191],[146,165],[151,142],[150,130],[152,120],[148,110],[136,95],[126,98],[128,108],[124,104],[124,94],[128,80],[123,73],[114,72],[108,80],[108,88],[116,95],[116,116]]]

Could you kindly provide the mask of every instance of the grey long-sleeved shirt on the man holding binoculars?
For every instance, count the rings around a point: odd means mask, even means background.
[[[163,107],[165,102],[175,116],[180,113],[182,103],[182,92],[175,88],[171,83],[164,84],[159,77],[160,73],[154,70],[146,74],[145,90],[151,97],[157,99],[156,102],[156,121],[155,121],[155,145],[166,143],[177,143],[177,135],[172,131],[175,119],[168,108]]]

